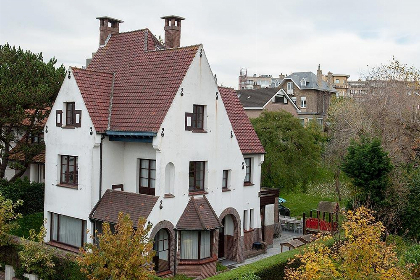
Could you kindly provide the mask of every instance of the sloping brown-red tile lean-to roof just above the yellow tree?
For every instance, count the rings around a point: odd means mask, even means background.
[[[118,214],[123,212],[129,214],[133,223],[137,225],[140,217],[147,219],[158,198],[157,196],[108,189],[92,209],[89,218],[116,224]]]

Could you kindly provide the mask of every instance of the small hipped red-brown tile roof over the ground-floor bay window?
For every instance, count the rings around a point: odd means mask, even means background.
[[[216,213],[206,197],[191,197],[184,213],[176,224],[177,229],[187,230],[209,230],[221,227]]]

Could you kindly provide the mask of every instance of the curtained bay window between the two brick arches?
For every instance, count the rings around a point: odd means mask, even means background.
[[[210,231],[181,231],[181,259],[199,260],[211,256]]]

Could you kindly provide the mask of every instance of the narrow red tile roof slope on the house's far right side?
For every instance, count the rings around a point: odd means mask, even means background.
[[[224,87],[219,87],[219,91],[242,153],[265,153],[264,147],[261,145],[260,139],[236,95],[236,91],[232,88]]]

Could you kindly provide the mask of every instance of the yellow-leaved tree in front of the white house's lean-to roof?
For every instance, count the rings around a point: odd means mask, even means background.
[[[153,241],[148,237],[151,224],[140,218],[137,228],[128,214],[120,213],[115,231],[104,223],[97,234],[97,245],[80,249],[77,262],[88,279],[148,279],[153,270]]]

